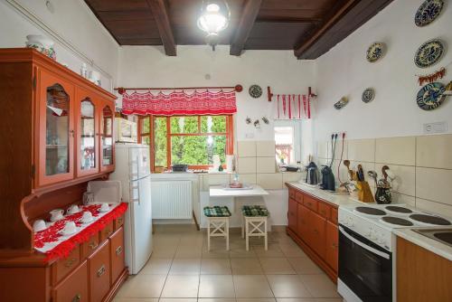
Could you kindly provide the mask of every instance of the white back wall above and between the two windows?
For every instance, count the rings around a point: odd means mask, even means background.
[[[127,46],[119,52],[118,86],[122,87],[199,87],[235,86],[237,93],[237,140],[273,140],[273,122],[262,122],[259,130],[245,124],[273,117],[274,103],[267,100],[267,86],[277,93],[307,93],[315,86],[315,62],[297,61],[293,52],[250,51],[240,57],[229,54],[229,46],[219,46],[215,52],[209,46],[178,46],[177,56],[168,57],[161,47]],[[211,80],[205,75],[210,74]],[[259,84],[263,94],[252,99],[248,89]],[[252,134],[254,137],[247,137]]]

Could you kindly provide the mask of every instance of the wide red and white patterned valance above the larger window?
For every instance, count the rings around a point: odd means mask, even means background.
[[[137,91],[122,96],[122,113],[158,116],[223,115],[237,112],[235,91]]]

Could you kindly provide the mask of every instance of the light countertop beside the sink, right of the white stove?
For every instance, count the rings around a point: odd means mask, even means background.
[[[444,229],[444,227],[442,228],[435,227],[435,228]],[[452,261],[452,247],[449,247],[445,243],[430,239],[424,235],[417,233],[416,231],[412,231],[412,229],[395,229],[393,233],[407,241],[419,245],[419,247],[434,252],[438,256],[444,257],[447,260]]]

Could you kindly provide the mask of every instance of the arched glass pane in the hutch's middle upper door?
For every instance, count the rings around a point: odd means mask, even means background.
[[[96,169],[96,108],[89,98],[80,102],[79,161],[80,170]]]

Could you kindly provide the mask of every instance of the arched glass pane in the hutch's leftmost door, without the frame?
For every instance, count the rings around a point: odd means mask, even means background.
[[[45,175],[70,172],[70,98],[60,84],[46,90]]]

